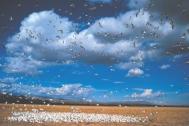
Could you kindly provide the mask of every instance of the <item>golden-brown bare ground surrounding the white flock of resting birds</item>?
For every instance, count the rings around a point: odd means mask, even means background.
[[[112,106],[43,106],[0,104],[0,126],[189,126],[189,108],[179,107],[112,107]],[[119,115],[136,115],[149,120],[145,123],[24,123],[11,122],[7,118],[12,111],[38,109],[47,112],[85,112]]]

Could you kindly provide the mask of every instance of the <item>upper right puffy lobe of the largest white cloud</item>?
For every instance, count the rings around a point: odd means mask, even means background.
[[[137,16],[136,16],[137,15]],[[118,17],[105,17],[97,20],[88,31],[101,38],[108,36],[126,40],[144,40],[155,38],[155,35],[163,37],[172,32],[171,24],[160,24],[150,18],[150,13],[141,9],[128,11]],[[141,33],[142,32],[142,33]],[[102,34],[105,34],[103,35]],[[120,34],[122,33],[122,34]],[[117,39],[115,39],[117,37]],[[111,41],[110,41],[111,42]]]

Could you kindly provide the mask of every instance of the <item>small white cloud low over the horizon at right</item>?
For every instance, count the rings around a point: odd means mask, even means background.
[[[164,93],[157,91],[153,92],[152,89],[144,89],[142,93],[133,93],[131,95],[132,98],[153,98],[153,97],[160,97]]]

